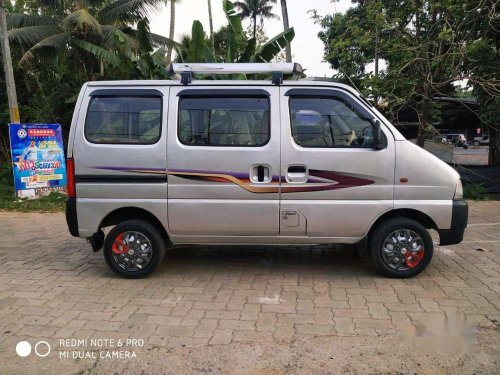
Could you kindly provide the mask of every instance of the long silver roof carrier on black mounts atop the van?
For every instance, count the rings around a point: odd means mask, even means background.
[[[180,74],[181,83],[189,85],[195,74],[272,74],[273,84],[281,85],[284,74],[302,74],[297,63],[223,63],[223,64],[171,64],[170,73]]]

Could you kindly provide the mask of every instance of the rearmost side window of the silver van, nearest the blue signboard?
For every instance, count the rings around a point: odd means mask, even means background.
[[[92,143],[153,144],[160,139],[160,97],[96,96],[85,119]]]

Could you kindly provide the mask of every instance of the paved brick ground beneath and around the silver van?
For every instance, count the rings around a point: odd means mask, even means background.
[[[124,280],[63,214],[0,212],[0,373],[499,373],[500,202],[470,223],[410,280],[341,247],[179,248]],[[20,358],[21,340],[52,352]],[[118,350],[137,358],[99,358]]]

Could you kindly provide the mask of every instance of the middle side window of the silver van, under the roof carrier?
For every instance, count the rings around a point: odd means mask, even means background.
[[[190,146],[263,146],[269,141],[267,98],[181,98],[179,140]]]

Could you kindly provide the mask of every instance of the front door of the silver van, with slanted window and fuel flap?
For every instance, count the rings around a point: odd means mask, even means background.
[[[281,87],[281,235],[354,242],[393,207],[394,139],[353,94]]]

